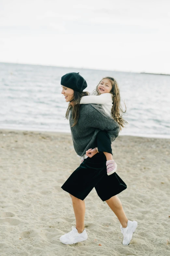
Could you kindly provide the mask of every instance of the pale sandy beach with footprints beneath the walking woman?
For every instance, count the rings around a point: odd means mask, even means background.
[[[0,256],[170,255],[170,139],[119,136],[112,143],[118,196],[138,227],[123,246],[120,223],[95,189],[85,199],[88,239],[64,245],[75,226],[61,186],[79,166],[70,134],[0,130]],[[99,246],[101,244],[101,246]]]

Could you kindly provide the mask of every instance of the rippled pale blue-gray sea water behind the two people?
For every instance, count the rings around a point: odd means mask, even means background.
[[[170,76],[0,63],[0,129],[70,132],[61,77],[79,72],[91,92],[105,76],[120,87],[128,122],[120,135],[170,138]]]

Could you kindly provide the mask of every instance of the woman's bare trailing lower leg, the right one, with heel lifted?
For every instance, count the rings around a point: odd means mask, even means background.
[[[123,207],[122,207],[119,197],[117,195],[112,196],[110,199],[106,200],[106,203],[118,217],[122,228],[126,228],[128,219],[124,213],[124,210],[123,210]]]

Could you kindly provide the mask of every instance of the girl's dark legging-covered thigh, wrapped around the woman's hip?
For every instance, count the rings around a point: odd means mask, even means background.
[[[106,131],[98,132],[96,140],[97,140],[97,148],[99,152],[107,152],[112,154],[111,140]]]

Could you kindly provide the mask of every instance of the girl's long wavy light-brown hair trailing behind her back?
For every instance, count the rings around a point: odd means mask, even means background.
[[[126,122],[122,118],[123,114],[126,112],[126,109],[125,109],[125,111],[123,111],[121,103],[120,103],[120,90],[119,90],[118,83],[116,82],[116,80],[113,77],[104,77],[103,79],[109,79],[112,84],[112,89],[110,91],[110,93],[112,94],[112,100],[113,100],[113,107],[111,109],[111,115],[112,115],[112,118],[116,122],[118,122],[118,124],[120,125],[120,130],[121,130],[121,128],[125,127],[125,125],[128,124],[128,122]],[[98,85],[100,84],[100,82],[98,83]],[[96,92],[99,95],[100,93],[98,91],[98,85],[96,86]],[[126,105],[125,105],[125,108],[126,108]]]

